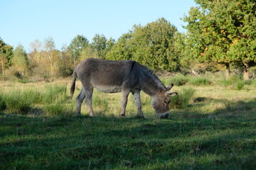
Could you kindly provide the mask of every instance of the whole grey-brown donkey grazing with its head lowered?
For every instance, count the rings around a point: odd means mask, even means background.
[[[78,115],[81,111],[81,103],[85,99],[90,116],[94,116],[92,110],[92,91],[94,88],[105,93],[122,92],[122,117],[125,117],[127,98],[131,92],[138,109],[137,114],[141,118],[144,118],[144,115],[140,91],[151,96],[151,106],[160,118],[169,117],[170,96],[177,94],[169,91],[174,84],[168,87],[164,86],[150,69],[132,60],[110,61],[94,58],[83,60],[74,69],[70,88],[71,96],[75,91],[76,78],[80,79],[82,83],[82,90],[76,98],[76,114]]]

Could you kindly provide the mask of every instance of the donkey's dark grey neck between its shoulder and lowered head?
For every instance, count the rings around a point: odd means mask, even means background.
[[[162,84],[161,81],[156,78],[156,76],[149,73],[144,73],[144,78],[146,79],[146,82],[142,83],[142,91],[144,91],[149,96],[155,96],[161,91],[166,90],[164,84]]]

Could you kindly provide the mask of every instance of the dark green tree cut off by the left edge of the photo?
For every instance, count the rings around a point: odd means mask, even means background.
[[[0,38],[0,62],[1,62],[1,73],[4,75],[4,70],[11,66],[11,58],[13,57],[13,47],[7,45]]]

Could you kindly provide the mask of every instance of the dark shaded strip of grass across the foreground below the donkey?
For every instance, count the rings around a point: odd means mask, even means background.
[[[255,104],[239,101],[208,115],[176,111],[167,120],[0,113],[0,167],[253,169]]]

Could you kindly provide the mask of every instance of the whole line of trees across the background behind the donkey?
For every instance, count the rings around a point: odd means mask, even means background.
[[[31,42],[31,52],[12,47],[0,39],[1,77],[68,77],[75,64],[88,57],[106,60],[136,60],[151,69],[188,72],[203,63],[203,69],[238,68],[244,79],[256,65],[256,3],[252,0],[196,0],[191,7],[186,33],[178,33],[165,18],[135,25],[117,41],[95,35],[91,42],[77,35],[68,46],[55,49],[53,38]],[[202,64],[201,64],[202,65]]]

